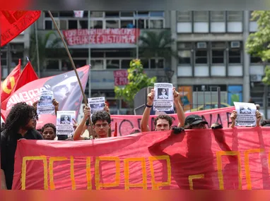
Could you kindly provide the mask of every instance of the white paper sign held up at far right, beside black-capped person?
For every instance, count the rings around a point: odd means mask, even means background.
[[[235,126],[256,126],[256,105],[247,102],[233,102],[237,111]]]

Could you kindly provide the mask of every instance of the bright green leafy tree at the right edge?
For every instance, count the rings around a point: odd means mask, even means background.
[[[249,35],[246,42],[247,53],[258,56],[262,61],[270,60],[270,11],[253,11],[252,20],[257,20],[257,32]],[[270,67],[265,68],[263,83],[270,85]]]

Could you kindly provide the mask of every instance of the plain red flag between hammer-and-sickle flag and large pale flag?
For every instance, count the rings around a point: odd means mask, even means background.
[[[16,90],[18,90],[20,87],[23,87],[23,85],[26,85],[27,83],[30,83],[34,80],[37,80],[37,74],[35,73],[35,70],[33,66],[31,65],[30,61],[26,64],[25,68],[23,69],[23,72],[20,73],[20,77],[18,78],[15,87],[13,87],[13,90],[11,91],[10,95],[13,95]],[[8,103],[8,98],[4,100],[4,102],[1,102],[1,109],[6,110],[6,104]]]

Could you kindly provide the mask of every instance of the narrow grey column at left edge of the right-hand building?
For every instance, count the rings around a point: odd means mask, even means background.
[[[170,31],[172,33],[172,39],[175,39],[175,43],[172,44],[172,51],[177,52],[177,20],[176,20],[177,11],[170,11]],[[176,88],[178,88],[177,85],[177,58],[174,56],[171,57],[171,68],[172,71],[175,71],[175,73],[172,76],[172,85]]]

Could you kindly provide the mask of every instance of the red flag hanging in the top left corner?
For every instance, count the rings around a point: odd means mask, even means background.
[[[4,46],[40,18],[41,11],[0,11],[1,45]]]

